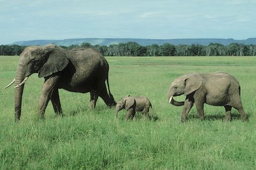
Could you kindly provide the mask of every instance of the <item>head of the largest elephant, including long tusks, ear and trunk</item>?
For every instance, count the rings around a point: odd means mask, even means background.
[[[24,84],[27,78],[38,72],[38,77],[47,77],[63,70],[69,63],[62,48],[49,44],[45,46],[29,46],[20,54],[15,83],[15,120],[20,119],[21,101]],[[8,87],[7,86],[7,87]],[[5,87],[6,88],[6,87]]]

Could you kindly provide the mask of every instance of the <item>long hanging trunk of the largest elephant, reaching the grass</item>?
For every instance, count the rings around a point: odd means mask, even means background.
[[[24,89],[24,83],[22,81],[25,79],[25,69],[24,65],[19,63],[18,69],[16,71],[15,77],[15,100],[14,100],[14,111],[15,111],[15,121],[18,122],[20,120],[21,115],[21,101],[22,101],[22,94]],[[19,86],[19,84],[21,84]]]

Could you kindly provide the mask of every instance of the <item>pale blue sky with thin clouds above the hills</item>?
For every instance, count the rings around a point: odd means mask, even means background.
[[[0,0],[0,44],[71,38],[256,37],[256,0]]]

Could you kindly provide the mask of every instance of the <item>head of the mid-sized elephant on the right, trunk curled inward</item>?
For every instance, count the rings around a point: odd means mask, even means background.
[[[182,106],[184,102],[177,102],[173,96],[189,95],[202,85],[202,77],[199,74],[189,74],[176,78],[172,83],[167,93],[168,101],[175,106]]]

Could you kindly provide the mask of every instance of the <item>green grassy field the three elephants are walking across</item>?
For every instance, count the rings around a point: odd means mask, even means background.
[[[14,123],[14,89],[3,89],[15,77],[18,57],[0,56],[0,169],[255,169],[256,57],[106,57],[110,90],[116,101],[146,95],[158,120],[139,114],[115,119],[99,99],[90,110],[89,94],[60,90],[65,117],[55,117],[49,103],[45,120],[36,119],[43,78],[26,82],[21,121]],[[223,122],[224,107],[205,105],[206,120],[195,107],[181,124],[183,107],[168,104],[174,78],[191,72],[224,71],[241,85],[249,122],[233,109]],[[179,96],[176,100],[184,100]]]

